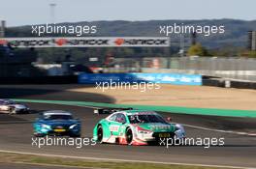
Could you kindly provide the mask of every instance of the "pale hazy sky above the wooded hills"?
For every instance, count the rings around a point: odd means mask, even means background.
[[[0,0],[7,26],[56,22],[239,18],[256,19],[256,0]]]

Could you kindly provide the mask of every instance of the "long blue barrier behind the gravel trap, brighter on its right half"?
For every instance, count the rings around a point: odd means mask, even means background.
[[[175,85],[202,85],[202,75],[182,73],[81,73],[80,84],[99,82],[152,82]]]

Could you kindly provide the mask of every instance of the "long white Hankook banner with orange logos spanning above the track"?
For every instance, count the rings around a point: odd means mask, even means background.
[[[49,37],[3,38],[1,45],[12,47],[163,47],[170,45],[169,38],[148,37]]]

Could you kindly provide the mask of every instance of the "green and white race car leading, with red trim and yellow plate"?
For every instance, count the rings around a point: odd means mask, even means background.
[[[112,113],[93,129],[93,139],[99,143],[148,145],[161,138],[184,138],[185,130],[170,124],[153,111],[125,110]]]

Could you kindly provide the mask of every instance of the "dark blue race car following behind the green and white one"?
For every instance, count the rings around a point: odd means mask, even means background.
[[[72,113],[62,110],[50,110],[40,113],[33,124],[35,136],[68,135],[80,137],[80,120],[74,119]]]

